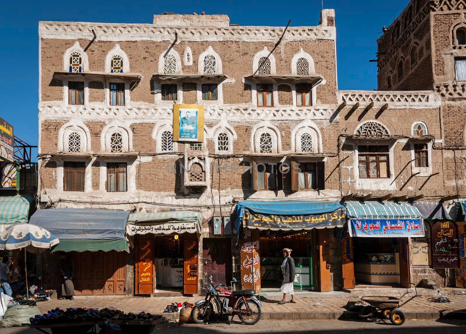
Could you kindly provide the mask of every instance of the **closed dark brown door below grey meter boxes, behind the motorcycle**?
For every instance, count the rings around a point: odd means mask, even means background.
[[[204,238],[202,262],[203,277],[208,279],[212,276],[215,283],[229,286],[232,280],[231,239]]]

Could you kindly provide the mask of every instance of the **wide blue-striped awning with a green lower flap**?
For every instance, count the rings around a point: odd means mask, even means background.
[[[128,211],[119,210],[55,208],[35,211],[29,222],[45,228],[60,240],[55,251],[123,251],[128,249],[129,215]]]

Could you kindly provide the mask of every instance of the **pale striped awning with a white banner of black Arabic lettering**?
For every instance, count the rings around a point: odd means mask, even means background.
[[[126,232],[135,234],[200,233],[202,214],[195,211],[131,213]]]

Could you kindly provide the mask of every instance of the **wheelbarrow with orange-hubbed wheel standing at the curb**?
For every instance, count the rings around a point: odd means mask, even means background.
[[[411,285],[414,286],[415,291],[408,291],[408,286]],[[409,293],[414,293],[414,295],[408,300],[401,302],[404,296]],[[400,298],[376,296],[362,297],[361,300],[365,301],[369,305],[363,307],[359,316],[369,322],[377,321],[377,319],[380,318],[382,320],[390,320],[393,325],[401,326],[406,320],[406,315],[398,308],[420,296],[422,296],[422,294],[418,294],[416,285],[412,282],[406,282],[406,293],[404,293]]]

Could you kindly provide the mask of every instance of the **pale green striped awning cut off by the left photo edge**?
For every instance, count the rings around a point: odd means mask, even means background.
[[[14,195],[0,197],[0,232],[8,225],[27,223],[30,197]]]

